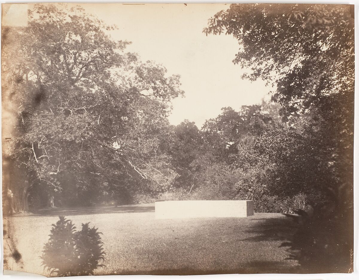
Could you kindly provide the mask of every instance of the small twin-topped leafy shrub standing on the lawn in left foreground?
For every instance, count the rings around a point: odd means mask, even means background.
[[[81,231],[76,231],[71,220],[60,216],[52,224],[48,242],[43,248],[42,264],[51,274],[57,276],[93,275],[93,271],[104,260],[103,242],[97,228],[82,224]]]

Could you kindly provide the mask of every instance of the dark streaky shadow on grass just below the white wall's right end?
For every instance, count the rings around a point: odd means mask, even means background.
[[[258,223],[246,230],[251,237],[246,241],[287,241],[295,231],[292,219],[285,217],[256,219]]]

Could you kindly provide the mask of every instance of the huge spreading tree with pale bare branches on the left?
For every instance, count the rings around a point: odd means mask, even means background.
[[[53,4],[32,6],[24,28],[4,27],[3,100],[11,120],[3,130],[11,138],[4,189],[12,212],[28,210],[34,188],[52,201],[65,189],[89,201],[162,173],[153,155],[168,125],[168,101],[183,94],[179,76],[126,53],[129,42],[113,41],[112,28],[78,6]]]

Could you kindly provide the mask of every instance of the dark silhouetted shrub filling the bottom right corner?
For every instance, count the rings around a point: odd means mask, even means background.
[[[297,232],[283,246],[289,246],[290,258],[299,261],[304,273],[353,272],[354,216],[345,205],[353,193],[342,186],[332,195],[334,199],[292,216]]]

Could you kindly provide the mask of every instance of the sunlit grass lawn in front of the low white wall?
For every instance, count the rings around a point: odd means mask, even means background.
[[[91,221],[103,233],[106,266],[95,274],[289,273],[297,267],[280,247],[292,223],[284,215],[155,220],[154,205],[143,204],[4,218],[4,269],[49,276],[39,256],[58,215],[78,227]],[[14,260],[9,247],[21,256]]]

